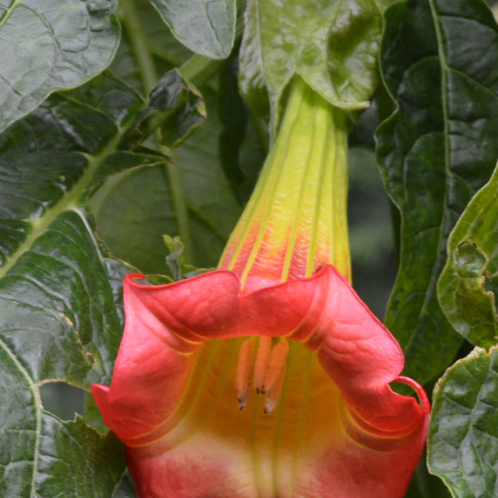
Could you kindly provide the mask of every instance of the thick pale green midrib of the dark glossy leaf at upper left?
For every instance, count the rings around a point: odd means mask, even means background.
[[[88,167],[83,173],[82,177],[76,182],[74,187],[68,190],[64,196],[59,200],[54,206],[46,211],[46,213],[38,220],[25,220],[31,224],[33,229],[29,235],[25,238],[24,242],[17,248],[16,251],[10,256],[7,263],[0,268],[0,278],[7,274],[7,272],[17,263],[19,258],[33,246],[36,239],[43,234],[43,232],[53,223],[56,218],[61,215],[64,211],[71,208],[77,208],[76,205],[79,197],[88,188],[95,173],[98,171],[99,167],[103,161],[116,150],[119,140],[123,134],[127,131],[127,127],[118,128],[117,133],[108,142],[108,144],[99,152],[98,154],[92,156],[89,154],[82,153],[83,156],[87,158]]]

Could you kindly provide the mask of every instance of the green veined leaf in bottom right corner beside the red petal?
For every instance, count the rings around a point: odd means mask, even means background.
[[[457,498],[496,496],[498,350],[475,348],[434,388],[429,471]]]

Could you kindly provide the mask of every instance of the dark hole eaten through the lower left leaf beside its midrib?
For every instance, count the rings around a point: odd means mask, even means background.
[[[85,391],[65,382],[48,382],[40,386],[45,410],[61,420],[73,420],[74,413],[83,415]]]

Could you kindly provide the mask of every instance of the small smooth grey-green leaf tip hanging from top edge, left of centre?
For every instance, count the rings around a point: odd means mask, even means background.
[[[224,59],[235,39],[235,0],[151,0],[172,33],[193,52]]]

